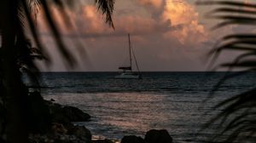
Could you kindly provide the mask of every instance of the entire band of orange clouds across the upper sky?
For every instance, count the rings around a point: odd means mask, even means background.
[[[185,1],[177,0],[138,0],[140,5],[153,5],[159,8],[161,4],[164,9],[147,9],[148,14],[156,14],[155,17],[142,17],[140,15],[117,14],[113,15],[115,31],[104,23],[104,17],[100,14],[94,5],[85,5],[75,13],[68,11],[70,20],[73,22],[74,29],[68,29],[65,22],[61,20],[61,14],[57,9],[52,9],[55,21],[61,32],[66,35],[79,34],[84,37],[95,36],[97,34],[148,34],[150,32],[162,32],[166,38],[176,37],[180,43],[201,43],[206,41],[207,34],[204,26],[199,24],[198,13],[195,8]],[[47,26],[40,20],[41,30],[47,31]],[[42,24],[43,23],[43,24]],[[181,25],[183,28],[181,28]],[[79,31],[79,33],[76,33]],[[192,37],[193,36],[193,37]],[[196,39],[194,39],[197,37]]]

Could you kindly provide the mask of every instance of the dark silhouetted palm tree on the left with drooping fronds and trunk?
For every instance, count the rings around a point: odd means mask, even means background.
[[[106,14],[106,22],[113,26],[113,0],[96,0],[96,5],[102,14]],[[34,87],[38,87],[38,66],[35,59],[49,60],[44,44],[36,27],[39,8],[45,15],[45,21],[53,34],[55,43],[63,60],[68,66],[74,66],[73,54],[63,43],[61,32],[55,25],[50,12],[50,6],[55,3],[61,10],[63,20],[68,22],[65,6],[76,1],[66,0],[1,0],[0,1],[0,140],[9,143],[27,143],[27,135],[31,132],[30,121],[39,121],[47,111],[44,106],[33,103],[35,98],[29,98],[29,91],[21,76],[26,72]],[[25,26],[28,24],[28,26]],[[28,28],[28,29],[26,29]],[[36,48],[32,47],[26,31],[31,31]],[[34,100],[31,100],[34,99]],[[32,106],[38,106],[30,109]],[[37,112],[41,112],[38,114]],[[35,119],[35,120],[32,120]],[[40,128],[37,124],[35,127]],[[33,131],[37,129],[32,129]]]

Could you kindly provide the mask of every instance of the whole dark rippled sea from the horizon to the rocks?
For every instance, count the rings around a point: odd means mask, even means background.
[[[201,130],[222,110],[213,106],[253,89],[256,82],[254,72],[226,80],[226,72],[143,72],[141,80],[114,78],[118,74],[43,72],[42,95],[89,113],[89,122],[75,124],[90,129],[97,139],[144,137],[150,129],[166,129],[174,142],[199,143],[218,132],[218,123]]]

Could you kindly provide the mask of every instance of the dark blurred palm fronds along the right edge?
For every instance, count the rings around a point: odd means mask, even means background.
[[[223,26],[253,26],[256,23],[256,4],[244,1],[203,1],[203,5],[214,5],[207,17],[221,20],[212,29]],[[212,94],[230,78],[236,78],[247,72],[255,72],[256,69],[256,34],[254,32],[243,32],[227,35],[220,40],[210,52],[212,64],[218,60],[223,51],[238,51],[235,60],[228,61],[216,66],[229,68],[229,72],[221,79],[212,90]],[[231,72],[239,69],[241,72]],[[255,85],[252,85],[252,87]],[[209,121],[204,129],[219,123],[218,133],[211,142],[255,142],[256,134],[256,88],[241,94],[236,94],[230,99],[220,102],[214,109],[223,109],[216,117]],[[212,96],[211,96],[212,97]]]

